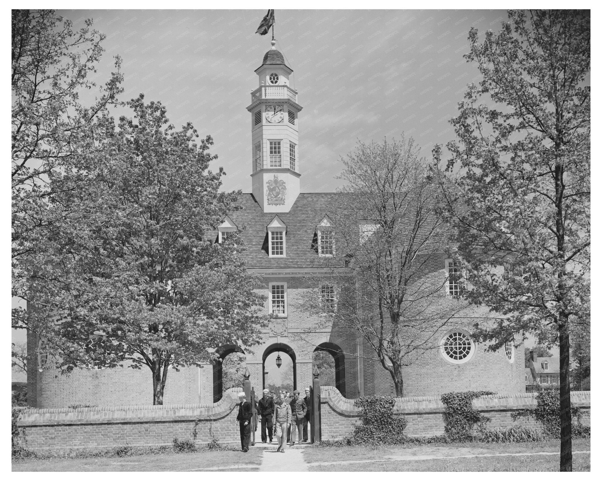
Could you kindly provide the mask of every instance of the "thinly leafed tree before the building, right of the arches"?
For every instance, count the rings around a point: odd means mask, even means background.
[[[402,136],[400,142],[358,142],[341,159],[339,178],[347,185],[328,213],[334,256],[320,258],[329,274],[303,302],[320,319],[314,330],[358,332],[399,397],[403,367],[438,349],[441,329],[467,305],[433,302],[445,298],[447,277],[431,260],[446,250],[447,232],[437,211],[438,185],[418,153],[413,139]]]

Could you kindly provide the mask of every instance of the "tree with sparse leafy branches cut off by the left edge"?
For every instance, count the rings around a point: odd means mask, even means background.
[[[53,222],[78,215],[78,204],[51,206],[49,198],[93,181],[87,175],[89,154],[104,148],[107,125],[113,123],[108,107],[122,92],[116,57],[117,72],[89,105],[81,103],[80,96],[93,96],[85,92],[97,87],[89,75],[96,73],[104,51],[105,35],[91,26],[88,19],[73,31],[72,22],[53,10],[12,11],[12,295],[21,299],[29,289],[23,261],[39,250]],[[13,327],[27,323],[26,311],[14,308]]]

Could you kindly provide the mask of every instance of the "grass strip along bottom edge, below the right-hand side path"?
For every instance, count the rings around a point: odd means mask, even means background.
[[[430,459],[309,466],[309,471],[558,471],[560,455]],[[589,471],[589,453],[573,455],[573,471]]]

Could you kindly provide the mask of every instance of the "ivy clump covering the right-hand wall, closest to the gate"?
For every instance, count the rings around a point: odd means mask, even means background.
[[[352,442],[358,444],[399,444],[408,421],[393,414],[393,396],[362,396],[355,400],[361,424],[353,426]]]

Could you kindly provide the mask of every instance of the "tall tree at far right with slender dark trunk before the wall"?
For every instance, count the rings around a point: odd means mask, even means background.
[[[468,37],[482,81],[451,120],[448,205],[468,298],[502,314],[477,339],[559,343],[560,470],[570,471],[569,331],[589,319],[589,11],[508,16],[482,43],[474,28]]]

